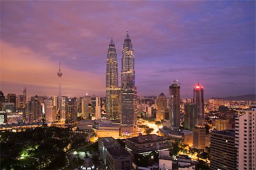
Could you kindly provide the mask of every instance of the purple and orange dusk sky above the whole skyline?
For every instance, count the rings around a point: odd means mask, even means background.
[[[7,93],[105,96],[110,36],[118,71],[126,29],[139,96],[255,94],[255,1],[1,1],[1,88]]]

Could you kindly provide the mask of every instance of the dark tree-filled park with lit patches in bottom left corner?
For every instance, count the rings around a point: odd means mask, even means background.
[[[56,169],[65,164],[69,129],[35,128],[1,132],[1,169]]]

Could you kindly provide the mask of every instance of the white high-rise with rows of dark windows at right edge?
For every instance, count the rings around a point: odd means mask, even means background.
[[[256,108],[238,110],[235,129],[237,168],[256,169]]]

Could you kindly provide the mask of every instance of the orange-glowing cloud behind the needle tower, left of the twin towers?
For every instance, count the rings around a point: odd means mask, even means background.
[[[56,95],[59,87],[56,74],[58,63],[48,58],[27,46],[14,46],[1,41],[1,89],[11,92],[7,86],[16,84],[19,91],[13,92],[17,94],[20,94],[23,86],[27,86],[32,95]],[[104,76],[72,70],[65,65],[61,66],[61,71],[62,95],[83,96],[86,92],[105,95]]]

